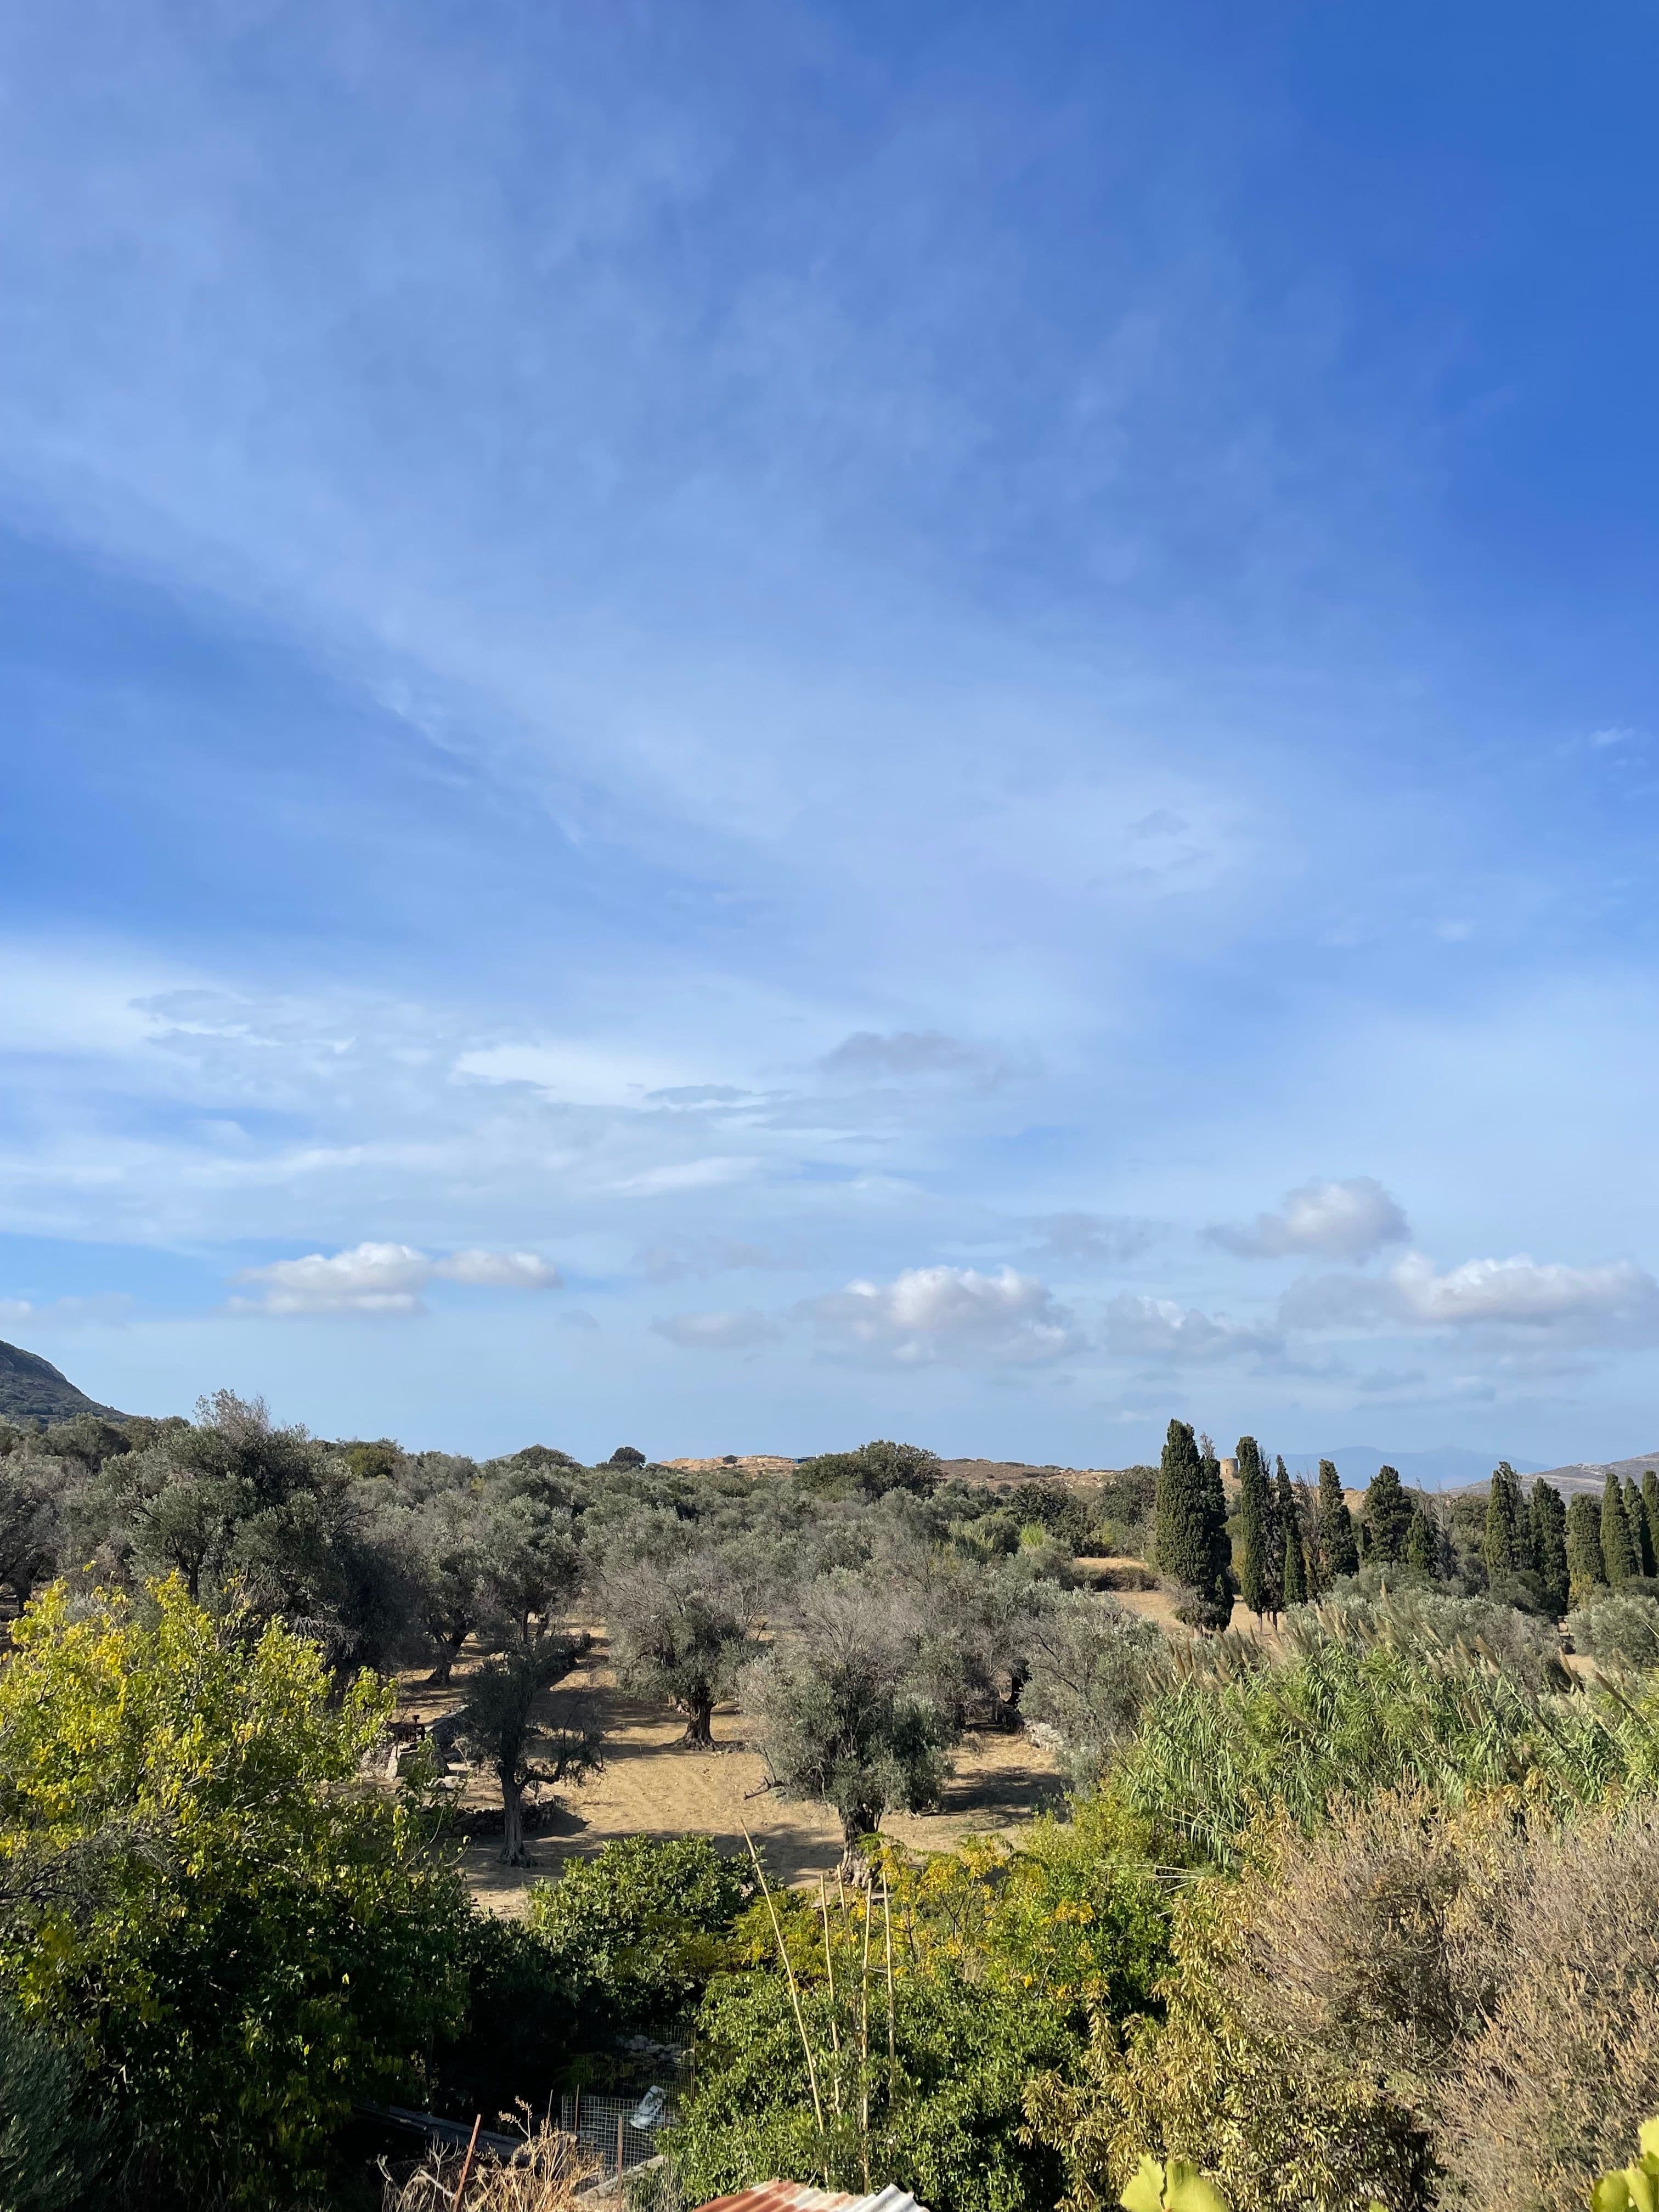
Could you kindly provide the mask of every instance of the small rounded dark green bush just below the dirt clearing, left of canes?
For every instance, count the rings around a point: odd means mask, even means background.
[[[726,1964],[723,1938],[750,1889],[748,1860],[708,1836],[622,1836],[535,1882],[526,1920],[582,2015],[613,2035],[664,2033]]]

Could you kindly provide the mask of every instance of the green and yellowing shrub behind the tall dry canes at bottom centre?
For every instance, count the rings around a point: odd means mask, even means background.
[[[1015,1851],[885,1849],[874,1893],[774,1893],[734,1942],[743,1964],[703,2000],[697,2088],[668,2143],[690,2203],[783,2172],[1037,2212],[1062,2170],[1029,2141],[1024,2088],[1077,2070],[1091,2017],[1150,2002],[1166,1905],[1144,1836],[1091,1803],[1077,1823],[1037,1820]]]

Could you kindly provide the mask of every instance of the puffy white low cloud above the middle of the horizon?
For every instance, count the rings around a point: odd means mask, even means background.
[[[891,1283],[847,1283],[801,1312],[830,1352],[898,1360],[1035,1367],[1082,1345],[1046,1283],[1002,1267],[907,1267]]]

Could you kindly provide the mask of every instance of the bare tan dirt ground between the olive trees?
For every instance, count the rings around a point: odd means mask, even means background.
[[[407,1719],[434,1721],[465,1697],[467,1668],[456,1670],[451,1690],[431,1690],[422,1677],[407,1677],[398,1708]],[[557,1871],[566,1858],[597,1851],[617,1836],[706,1834],[721,1849],[743,1849],[743,1829],[772,1878],[796,1882],[832,1869],[841,1856],[841,1825],[821,1805],[790,1805],[768,1790],[765,1761],[745,1743],[741,1714],[714,1714],[714,1750],[690,1752],[677,1743],[684,1721],[659,1705],[641,1705],[615,1688],[604,1639],[586,1666],[546,1697],[546,1717],[573,1699],[593,1699],[606,1728],[606,1765],[593,1781],[557,1792],[557,1809],[531,1838],[535,1867],[502,1867],[493,1836],[465,1845],[462,1874],[491,1911],[515,1916],[531,1882]],[[945,1785],[938,1812],[891,1814],[885,1832],[920,1851],[940,1851],[962,1836],[1006,1834],[1064,1792],[1057,1761],[1022,1734],[971,1732],[956,1752],[956,1774]],[[495,1785],[484,1774],[467,1783],[462,1805],[498,1805]]]

